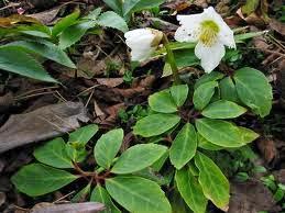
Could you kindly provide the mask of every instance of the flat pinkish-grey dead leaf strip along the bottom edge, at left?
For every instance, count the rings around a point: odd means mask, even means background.
[[[41,203],[40,203],[41,204]],[[97,202],[35,205],[31,213],[96,213],[105,210],[105,205]]]

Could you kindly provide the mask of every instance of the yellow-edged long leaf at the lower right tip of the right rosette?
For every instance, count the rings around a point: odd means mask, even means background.
[[[228,211],[230,184],[220,168],[207,156],[197,153],[195,165],[199,169],[199,183],[205,197],[219,209]]]

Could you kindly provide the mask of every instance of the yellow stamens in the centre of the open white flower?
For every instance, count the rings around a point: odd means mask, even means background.
[[[220,29],[217,23],[211,20],[206,20],[201,22],[199,41],[206,46],[211,46],[217,41],[219,31]]]

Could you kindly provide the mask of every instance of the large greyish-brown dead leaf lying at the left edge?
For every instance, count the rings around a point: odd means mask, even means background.
[[[11,115],[0,128],[0,153],[74,131],[80,126],[79,121],[88,120],[80,102],[52,104]]]

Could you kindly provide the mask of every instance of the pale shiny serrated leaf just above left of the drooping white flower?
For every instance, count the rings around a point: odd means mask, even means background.
[[[129,29],[128,25],[119,14],[112,11],[107,11],[98,18],[99,25],[117,29],[125,33]]]

